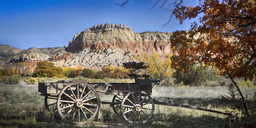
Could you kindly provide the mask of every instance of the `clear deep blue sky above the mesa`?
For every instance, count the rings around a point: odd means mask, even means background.
[[[129,0],[124,8],[115,4],[123,1],[0,0],[0,44],[19,49],[59,47],[68,45],[76,33],[98,24],[124,24],[135,33],[172,32],[188,30],[194,20],[179,25],[173,18],[162,26],[169,20],[170,12],[158,8],[160,4],[150,9],[157,0]],[[183,3],[197,4],[198,0]]]

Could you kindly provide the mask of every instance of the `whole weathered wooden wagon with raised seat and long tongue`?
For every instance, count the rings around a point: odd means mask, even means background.
[[[215,110],[195,106],[159,102],[151,98],[157,79],[150,79],[146,69],[147,62],[123,63],[130,71],[128,76],[134,78],[134,83],[89,83],[61,80],[55,83],[38,83],[38,91],[45,96],[45,107],[61,120],[77,125],[83,125],[93,120],[102,110],[102,104],[109,104],[115,113],[121,112],[129,123],[146,123],[154,113],[154,105],[177,106],[189,109],[222,113]],[[101,101],[99,95],[113,95],[112,102]]]

